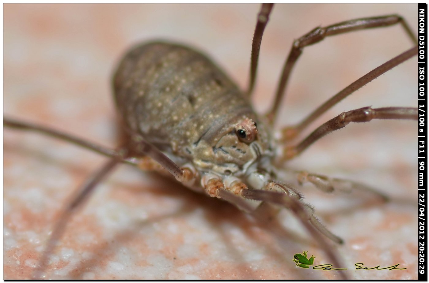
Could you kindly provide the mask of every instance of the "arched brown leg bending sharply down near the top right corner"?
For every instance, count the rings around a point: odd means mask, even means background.
[[[281,99],[284,96],[284,90],[286,89],[287,82],[289,80],[290,72],[293,66],[301,55],[302,50],[305,46],[312,45],[314,43],[322,41],[326,36],[334,36],[341,33],[348,33],[354,30],[364,30],[375,27],[387,27],[394,24],[401,24],[405,32],[408,34],[414,44],[417,45],[417,38],[412,33],[407,22],[399,15],[387,15],[373,18],[360,18],[350,21],[343,21],[338,24],[333,24],[327,27],[316,27],[304,36],[296,39],[292,48],[290,49],[289,56],[283,66],[283,71],[278,83],[277,92],[275,94],[275,100],[272,104],[272,108],[267,112],[267,117],[271,123],[275,122],[278,113],[278,107]],[[363,86],[363,85],[361,85]]]

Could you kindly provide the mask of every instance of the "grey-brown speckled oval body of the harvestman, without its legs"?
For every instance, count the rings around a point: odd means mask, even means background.
[[[207,57],[188,47],[150,42],[133,48],[115,73],[114,91],[128,131],[176,163],[240,175],[245,164],[271,155],[263,121],[245,95]],[[245,119],[257,124],[254,141],[237,137],[235,127]]]

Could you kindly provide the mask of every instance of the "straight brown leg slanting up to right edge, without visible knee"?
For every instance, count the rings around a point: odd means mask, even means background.
[[[329,98],[325,103],[317,107],[316,110],[310,113],[305,119],[302,120],[299,124],[292,127],[285,127],[282,129],[282,136],[284,140],[290,140],[293,137],[296,137],[302,130],[304,130],[311,122],[317,119],[320,115],[326,112],[329,108],[337,104],[342,99],[346,98],[348,95],[352,94],[356,90],[360,89],[362,86],[366,85],[370,81],[381,76],[385,72],[389,71],[395,66],[398,66],[400,63],[410,59],[411,57],[417,55],[417,46],[413,47],[402,54],[394,57],[393,59],[387,61],[386,63],[378,66],[374,70],[370,71],[363,77],[355,80],[353,83],[345,87],[343,90],[338,92],[336,95]]]

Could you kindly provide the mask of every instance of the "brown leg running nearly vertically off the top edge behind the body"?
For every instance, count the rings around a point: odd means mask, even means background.
[[[271,9],[273,6],[274,4],[269,4],[269,3],[262,4],[258,14],[257,23],[255,27],[255,32],[253,34],[253,41],[252,41],[252,53],[251,53],[251,61],[250,61],[250,79],[249,79],[249,86],[246,92],[248,96],[252,95],[252,91],[255,86],[256,69],[258,67],[258,58],[259,58],[259,51],[260,51],[261,42],[262,42],[262,35],[264,33],[266,24],[268,23],[269,14],[271,13]]]

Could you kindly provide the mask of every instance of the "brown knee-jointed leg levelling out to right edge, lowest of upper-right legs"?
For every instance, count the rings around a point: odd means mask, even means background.
[[[328,122],[322,124],[319,128],[314,130],[308,137],[296,146],[288,146],[284,149],[283,158],[290,159],[299,155],[312,143],[321,137],[329,134],[335,130],[344,128],[348,123],[362,123],[369,122],[372,119],[411,119],[417,120],[417,108],[408,107],[384,107],[384,108],[371,108],[362,107],[355,110],[343,112],[335,118],[330,119]]]

